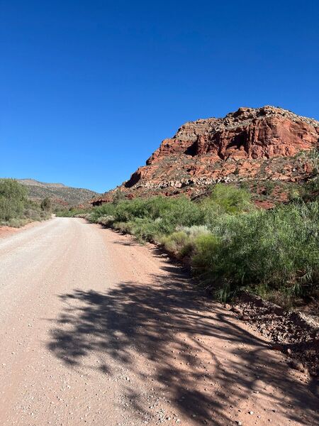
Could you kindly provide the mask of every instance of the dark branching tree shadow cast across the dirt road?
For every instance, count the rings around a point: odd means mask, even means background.
[[[315,424],[317,398],[286,364],[279,364],[267,342],[210,302],[179,268],[167,264],[163,269],[149,285],[122,282],[105,293],[74,289],[60,295],[65,308],[51,330],[50,350],[69,366],[81,365],[92,353],[103,356],[99,368],[106,374],[114,362],[141,374],[134,354],[143,354],[156,366],[148,373],[152,386],[169,392],[172,405],[198,423],[229,424],[231,408],[257,388],[260,397],[272,386],[286,395],[285,403],[271,396],[274,406],[298,406]],[[228,368],[220,358],[225,345],[235,360],[225,360]],[[138,395],[135,400],[138,406]],[[289,413],[287,420],[308,424],[293,410]]]

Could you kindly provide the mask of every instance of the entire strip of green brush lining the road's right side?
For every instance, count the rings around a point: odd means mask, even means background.
[[[254,206],[245,188],[218,184],[198,202],[115,200],[68,214],[162,244],[220,301],[240,290],[281,305],[318,297],[318,197],[306,203],[296,196],[264,210]]]

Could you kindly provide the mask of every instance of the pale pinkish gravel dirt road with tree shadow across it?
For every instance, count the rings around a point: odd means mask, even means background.
[[[318,424],[305,376],[156,249],[56,218],[0,268],[0,425]]]

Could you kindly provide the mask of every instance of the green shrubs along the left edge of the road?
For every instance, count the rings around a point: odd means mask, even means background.
[[[50,215],[50,199],[29,200],[26,187],[13,179],[0,179],[0,226],[20,227]]]

